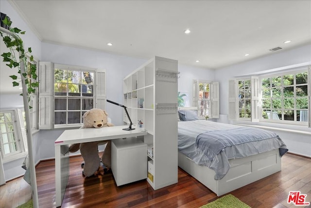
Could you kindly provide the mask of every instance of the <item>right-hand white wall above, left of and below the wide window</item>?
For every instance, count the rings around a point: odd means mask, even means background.
[[[279,52],[271,56],[261,57],[244,63],[224,67],[215,71],[215,79],[220,82],[220,114],[223,120],[219,122],[228,123],[228,81],[234,79],[235,76],[244,76],[261,71],[272,70],[280,67],[290,66],[294,64],[306,63],[311,61],[311,45],[302,46],[293,50]],[[241,122],[240,122],[241,123]],[[246,122],[247,123],[247,122]],[[245,124],[245,123],[244,123]],[[250,123],[248,123],[250,124]],[[311,129],[299,126],[277,125],[272,123],[255,123],[256,125],[264,125],[275,127],[270,129],[278,133],[287,145],[290,152],[311,157]],[[284,130],[280,129],[283,128]],[[292,128],[293,132],[287,130]],[[304,133],[301,133],[303,131]],[[307,132],[307,133],[306,133]],[[308,134],[309,133],[309,134]]]

